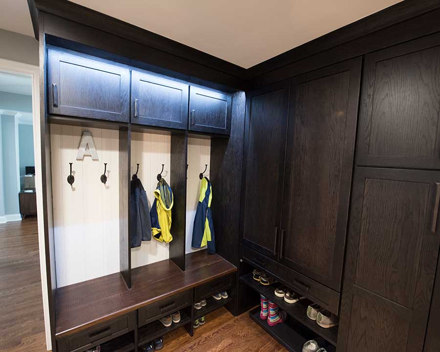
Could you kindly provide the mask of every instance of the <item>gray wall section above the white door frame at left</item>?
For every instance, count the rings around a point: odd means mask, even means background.
[[[0,58],[38,66],[38,41],[33,37],[0,29]]]

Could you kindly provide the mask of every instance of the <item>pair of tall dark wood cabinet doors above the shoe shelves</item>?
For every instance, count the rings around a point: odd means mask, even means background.
[[[242,244],[309,293],[340,291],[360,72],[356,58],[247,96]]]

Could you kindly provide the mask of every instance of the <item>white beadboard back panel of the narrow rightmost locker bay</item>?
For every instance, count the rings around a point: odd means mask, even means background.
[[[211,163],[211,140],[201,138],[188,138],[188,179],[186,190],[186,253],[191,253],[202,247],[192,248],[194,217],[196,216],[198,198],[200,197],[200,178],[198,177],[205,164],[208,165],[204,176],[209,178],[209,167]],[[216,190],[213,188],[212,201],[215,202]],[[213,214],[213,217],[215,214]]]

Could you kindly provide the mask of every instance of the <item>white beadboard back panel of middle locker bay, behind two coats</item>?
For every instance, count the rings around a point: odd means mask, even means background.
[[[136,164],[139,164],[137,176],[147,193],[148,202],[154,201],[153,191],[157,186],[157,174],[164,164],[162,177],[170,183],[171,163],[171,136],[155,133],[132,132],[131,173],[136,172]],[[172,210],[174,211],[174,210]],[[171,225],[173,234],[173,224]],[[155,263],[170,257],[169,244],[158,242],[154,239],[143,241],[140,247],[132,248],[132,268]]]

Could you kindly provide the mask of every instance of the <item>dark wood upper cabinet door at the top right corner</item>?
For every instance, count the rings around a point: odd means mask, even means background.
[[[440,168],[440,35],[365,56],[357,165]]]

